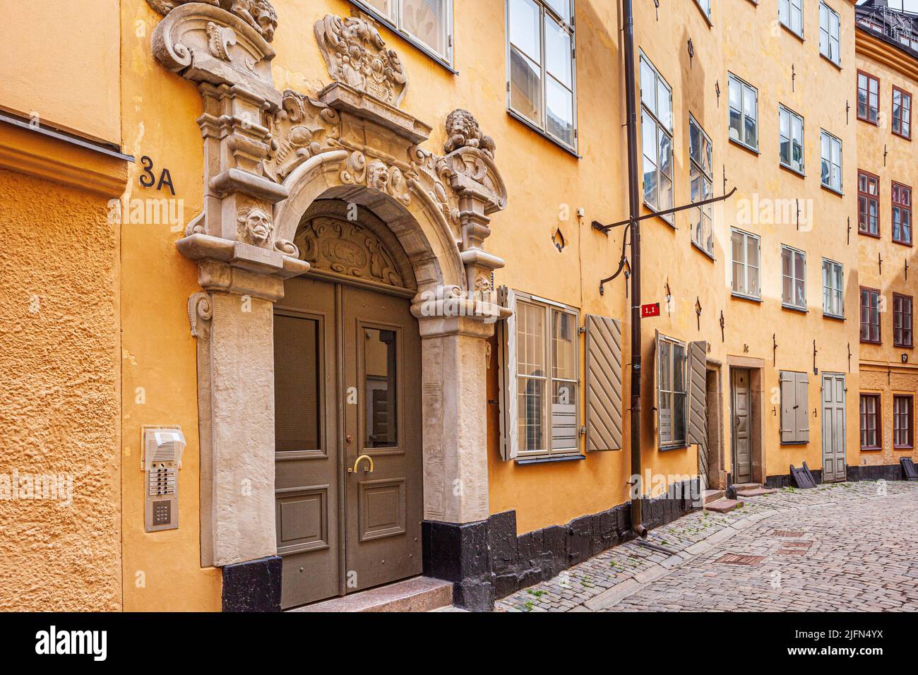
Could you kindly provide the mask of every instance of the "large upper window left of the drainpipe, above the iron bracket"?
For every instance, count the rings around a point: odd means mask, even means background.
[[[509,109],[577,146],[573,0],[508,0]]]

